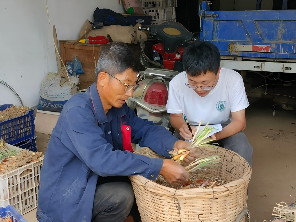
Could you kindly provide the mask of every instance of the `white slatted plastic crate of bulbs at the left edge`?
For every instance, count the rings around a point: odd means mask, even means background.
[[[6,144],[18,152],[23,149]],[[21,215],[37,207],[43,160],[29,163],[0,175],[0,207],[12,205]]]

